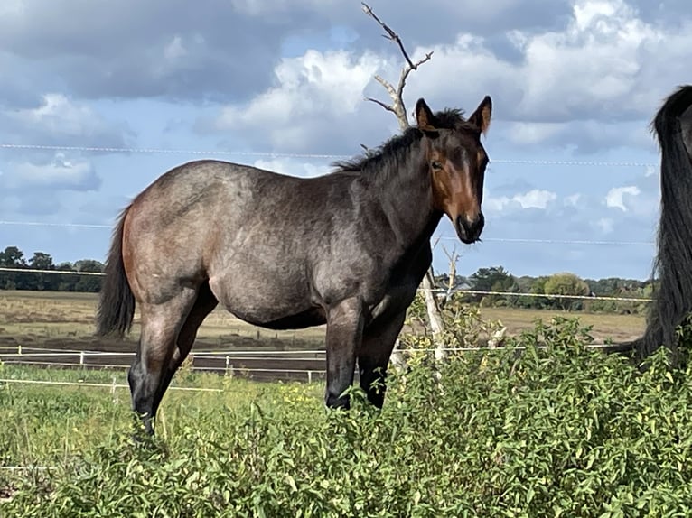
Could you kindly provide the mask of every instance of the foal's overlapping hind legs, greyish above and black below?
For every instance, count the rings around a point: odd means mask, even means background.
[[[164,303],[141,304],[142,334],[127,381],[132,408],[141,416],[149,434],[154,433],[152,421],[165,392],[165,379],[182,323],[196,297],[197,292],[187,288]]]

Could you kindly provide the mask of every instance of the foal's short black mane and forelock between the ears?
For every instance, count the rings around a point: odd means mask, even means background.
[[[439,129],[461,129],[468,126],[473,129],[463,118],[463,110],[447,108],[435,114],[435,125]],[[423,133],[416,126],[411,126],[403,134],[391,137],[379,147],[369,149],[366,153],[349,160],[332,162],[333,172],[367,172],[388,171],[397,169],[406,157],[411,146],[420,141]]]

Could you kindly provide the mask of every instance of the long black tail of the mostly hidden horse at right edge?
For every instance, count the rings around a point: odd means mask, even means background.
[[[661,346],[678,361],[676,328],[692,311],[692,162],[683,140],[680,116],[692,106],[692,85],[678,88],[654,117],[659,140],[660,220],[654,277],[659,287],[647,318],[644,335],[631,342],[644,358]]]

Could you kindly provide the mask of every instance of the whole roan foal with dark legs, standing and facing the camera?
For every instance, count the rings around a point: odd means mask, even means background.
[[[218,303],[263,328],[326,324],[326,407],[350,408],[357,360],[360,386],[381,408],[435,228],[446,215],[464,244],[482,234],[491,111],[490,96],[468,118],[434,114],[420,98],[415,126],[322,176],[201,160],[137,194],[113,230],[96,335],[122,338],[139,307],[127,379],[145,432],[154,434],[164,393]]]

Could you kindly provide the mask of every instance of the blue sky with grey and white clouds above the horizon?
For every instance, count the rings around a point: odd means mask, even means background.
[[[688,0],[371,0],[413,60],[404,98],[467,113],[490,95],[482,242],[446,218],[434,267],[650,277],[650,120],[689,82]],[[0,249],[104,260],[118,212],[215,158],[296,176],[397,134],[376,74],[397,46],[356,0],[3,0]]]

